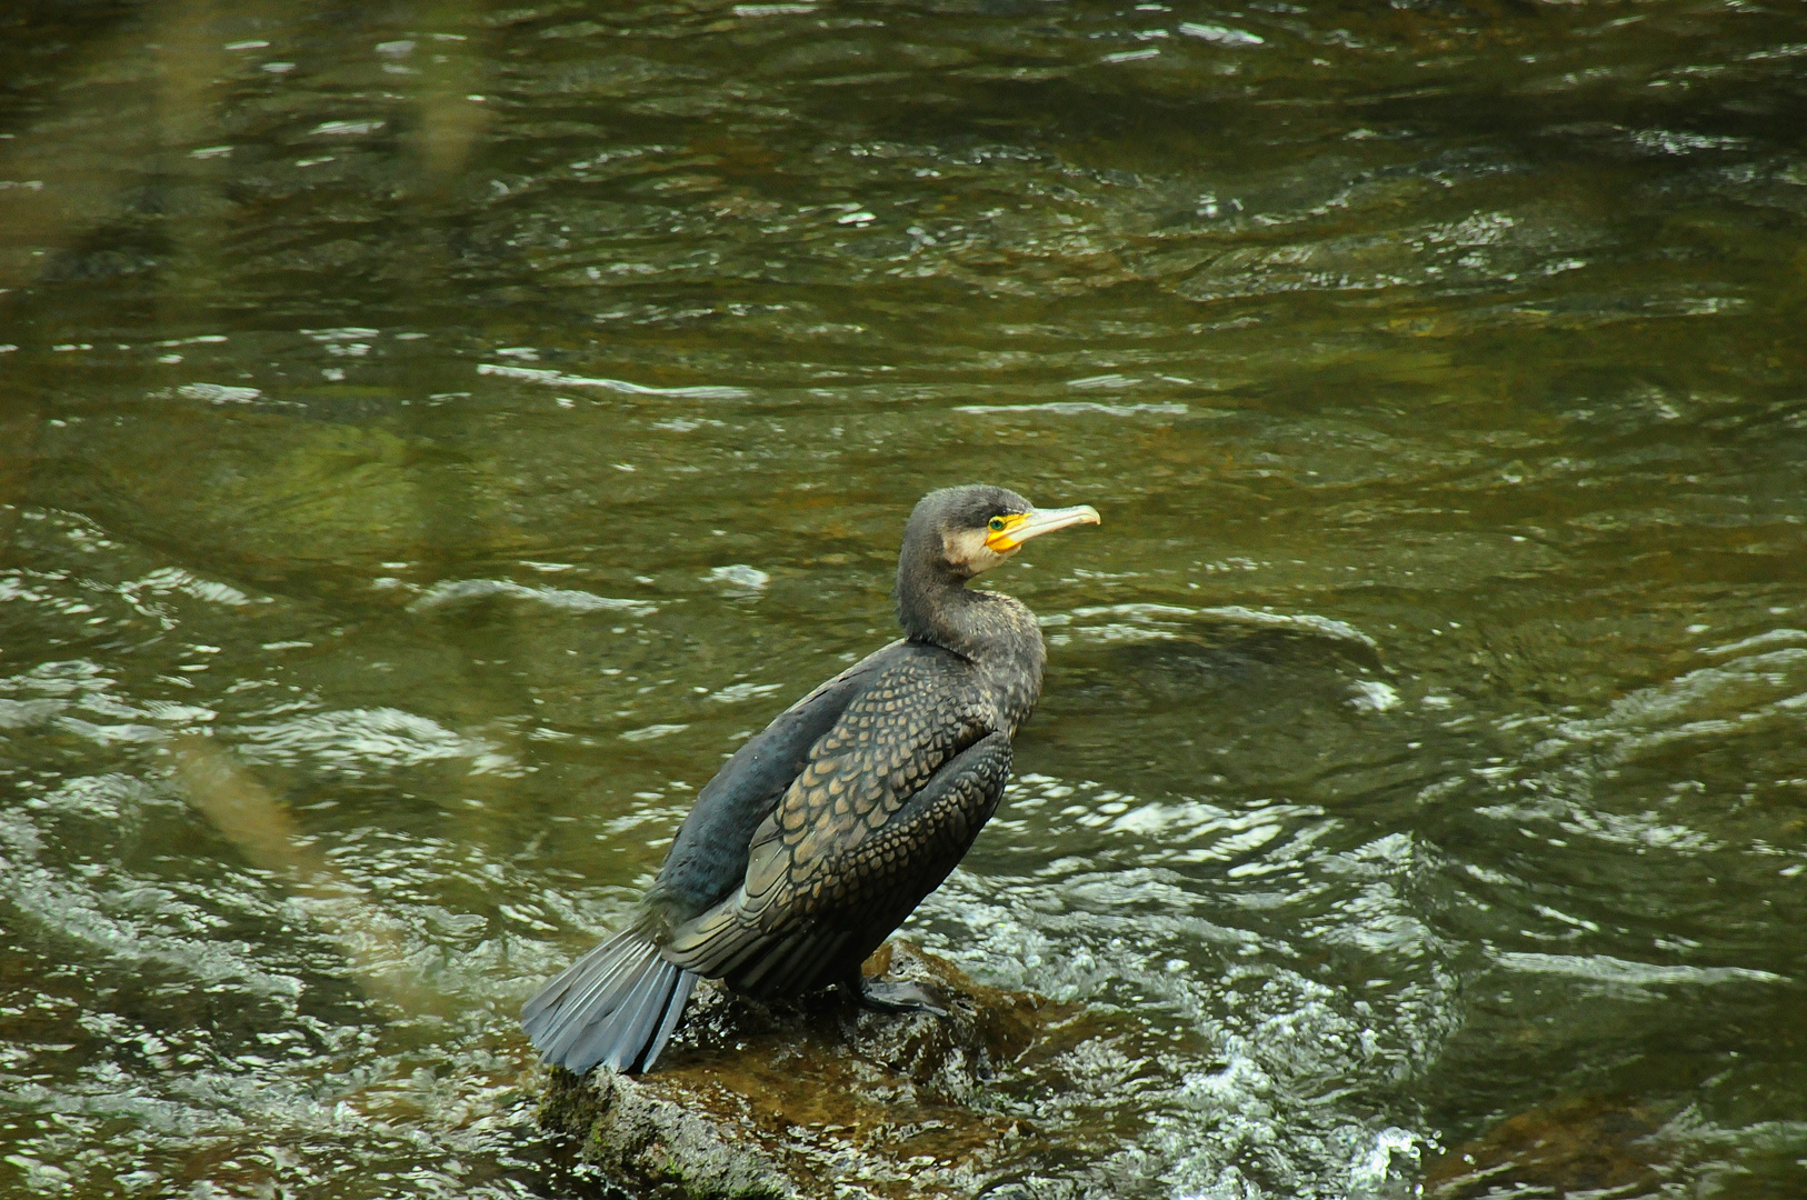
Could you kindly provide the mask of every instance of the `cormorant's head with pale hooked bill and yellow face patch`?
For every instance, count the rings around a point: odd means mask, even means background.
[[[902,571],[916,566],[960,580],[990,571],[1023,542],[1075,524],[1099,524],[1099,510],[1035,508],[1008,488],[967,484],[941,488],[916,502],[904,528]]]

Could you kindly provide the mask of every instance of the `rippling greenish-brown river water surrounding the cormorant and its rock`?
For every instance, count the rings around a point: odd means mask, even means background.
[[[1803,130],[1793,0],[9,5],[0,1189],[605,1191],[519,1003],[992,481],[997,1195],[1807,1195]]]

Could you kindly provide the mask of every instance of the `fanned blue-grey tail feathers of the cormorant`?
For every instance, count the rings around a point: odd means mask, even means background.
[[[640,929],[618,933],[566,967],[520,1008],[540,1057],[566,1070],[596,1063],[643,1072],[678,1028],[696,976],[665,961]]]

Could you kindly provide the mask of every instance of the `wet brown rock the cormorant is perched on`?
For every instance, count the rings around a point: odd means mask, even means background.
[[[542,1119],[634,1195],[1035,1195],[1032,1106],[1003,1088],[1081,1037],[1075,1007],[981,987],[891,942],[869,976],[909,980],[949,1016],[884,1014],[838,992],[763,1005],[705,983],[658,1068],[629,1077],[553,1070]]]

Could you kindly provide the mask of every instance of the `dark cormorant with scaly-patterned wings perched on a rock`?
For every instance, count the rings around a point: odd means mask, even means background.
[[[997,808],[1046,661],[1035,614],[967,580],[1097,520],[1006,488],[925,495],[898,555],[904,638],[781,712],[698,793],[636,920],[522,1008],[546,1061],[647,1070],[703,976],[761,999],[840,983],[871,1007],[938,1012],[860,963]]]

